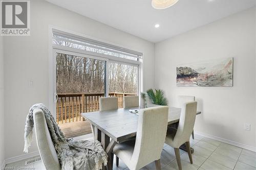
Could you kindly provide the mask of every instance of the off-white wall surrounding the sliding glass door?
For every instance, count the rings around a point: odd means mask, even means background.
[[[45,1],[31,1],[31,36],[5,37],[5,158],[23,154],[30,106],[48,106],[49,25],[144,53],[145,88],[154,86],[154,44]],[[28,80],[34,81],[28,87]],[[35,142],[29,152],[37,151]]]

